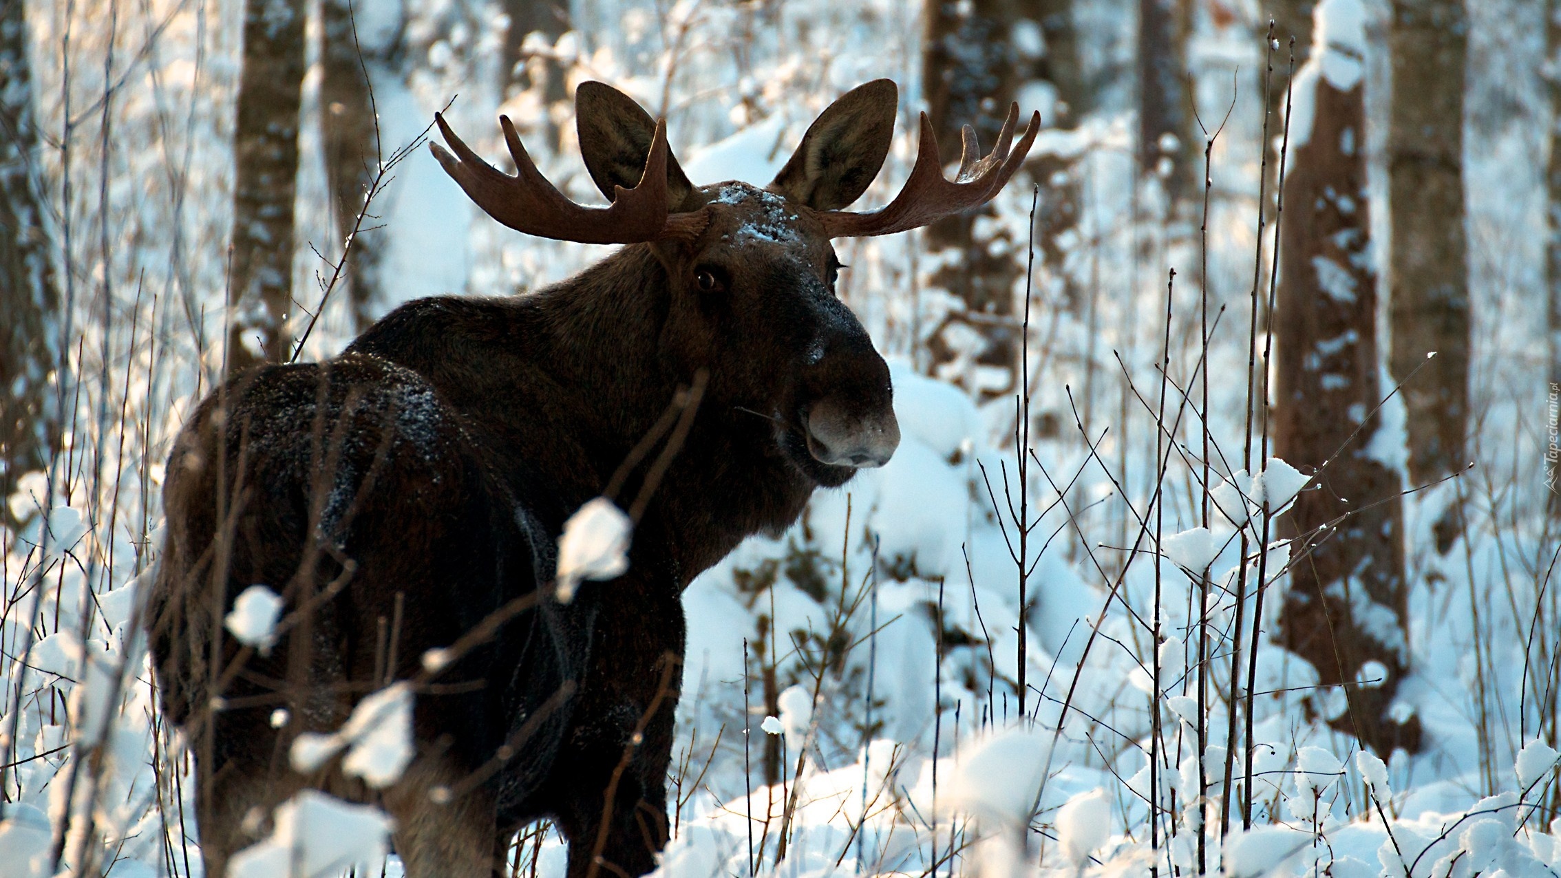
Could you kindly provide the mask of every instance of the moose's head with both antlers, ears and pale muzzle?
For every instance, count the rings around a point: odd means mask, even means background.
[[[1013,147],[1018,104],[996,148],[980,156],[963,129],[954,181],[921,114],[915,167],[885,207],[846,212],[877,176],[894,134],[898,89],[876,80],[820,115],[763,189],[727,181],[693,186],[667,145],[665,120],[603,83],[576,90],[581,153],[609,207],[573,203],[537,172],[515,126],[500,126],[517,175],[484,162],[439,117],[451,154],[434,156],[490,217],[521,232],[582,243],[645,243],[667,278],[662,356],[677,371],[720,363],[710,391],[768,421],[780,455],[810,487],[837,487],[882,466],[899,444],[888,368],[855,315],[835,298],[840,264],[830,239],[926,226],[983,204],[1024,161],[1035,115]],[[681,362],[679,362],[681,360]],[[679,368],[681,366],[681,368]]]

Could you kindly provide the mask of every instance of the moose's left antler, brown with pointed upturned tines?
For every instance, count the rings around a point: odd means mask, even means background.
[[[667,122],[656,123],[645,173],[634,189],[615,187],[610,207],[576,204],[551,182],[526,154],[520,134],[507,115],[498,117],[504,142],[515,159],[515,176],[495,168],[471,151],[450,129],[442,114],[434,114],[439,133],[454,150],[454,156],[439,143],[429,150],[445,173],[482,207],[489,217],[526,234],[579,243],[642,243],[668,237],[687,237],[698,231],[693,214],[670,214],[667,206]]]

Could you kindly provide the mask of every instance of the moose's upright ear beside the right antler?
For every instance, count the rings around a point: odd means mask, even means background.
[[[838,211],[866,192],[894,137],[899,89],[873,80],[840,97],[791,153],[770,189],[815,211]]]

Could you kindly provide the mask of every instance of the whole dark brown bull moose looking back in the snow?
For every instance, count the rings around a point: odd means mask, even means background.
[[[339,357],[233,376],[195,410],[169,460],[148,625],[194,753],[206,875],[303,788],[378,802],[412,878],[492,875],[540,817],[568,839],[571,878],[654,869],[682,589],[899,443],[888,368],[835,298],[830,239],[988,201],[1040,129],[1035,115],[1015,143],[1015,104],[980,156],[966,126],[949,181],[923,114],[899,195],[841,211],[880,170],[898,100],[888,80],[848,92],[763,189],[696,187],[665,122],[581,84],[581,153],[607,207],[559,193],[507,119],[514,176],[436,117],[450,151],[434,156],[490,217],[626,246],[529,295],[407,303]],[[610,483],[643,497],[628,572],[564,600],[559,535]],[[254,583],[286,607],[268,650],[223,632]],[[339,763],[289,764],[300,733],[340,727],[393,680],[415,691],[398,780],[373,791]]]

